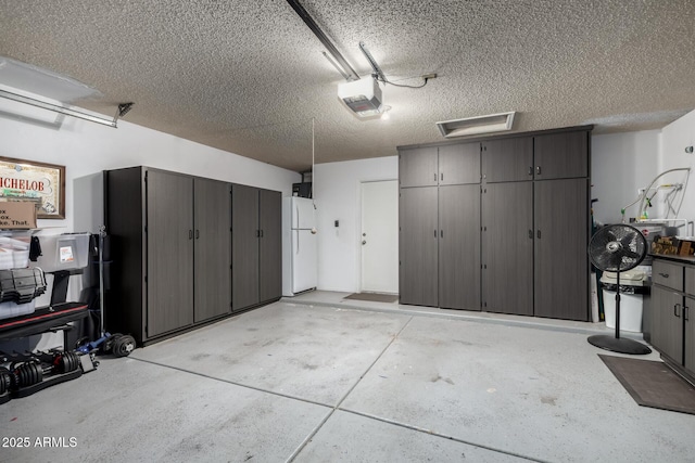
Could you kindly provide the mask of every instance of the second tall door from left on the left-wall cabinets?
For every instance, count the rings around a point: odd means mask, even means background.
[[[231,184],[207,179],[193,183],[194,321],[231,311]]]

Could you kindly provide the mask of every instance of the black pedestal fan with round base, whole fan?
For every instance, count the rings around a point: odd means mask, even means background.
[[[620,353],[645,355],[652,349],[634,339],[620,337],[620,272],[633,269],[644,260],[647,241],[634,227],[618,223],[606,226],[591,237],[589,257],[603,271],[616,272],[616,335],[589,336],[589,343]]]

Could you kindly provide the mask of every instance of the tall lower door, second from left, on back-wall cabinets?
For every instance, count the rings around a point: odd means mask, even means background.
[[[480,185],[439,189],[439,307],[480,310]]]

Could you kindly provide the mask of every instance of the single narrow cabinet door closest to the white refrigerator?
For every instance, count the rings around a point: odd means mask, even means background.
[[[260,275],[261,303],[282,295],[282,197],[278,191],[260,192]]]

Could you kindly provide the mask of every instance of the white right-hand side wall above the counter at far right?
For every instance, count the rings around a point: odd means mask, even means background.
[[[685,153],[686,146],[695,145],[695,111],[687,113],[680,119],[661,129],[659,171],[677,167],[690,167],[690,181],[684,191],[683,205],[679,217],[695,220],[695,153]],[[664,182],[682,181],[683,173],[673,175],[673,180],[665,178]],[[693,235],[692,228],[688,232],[679,230],[679,234]]]

